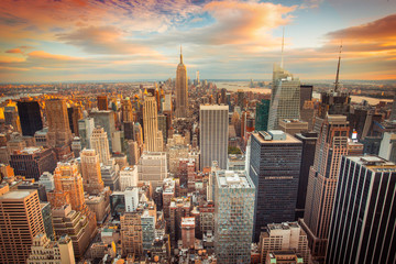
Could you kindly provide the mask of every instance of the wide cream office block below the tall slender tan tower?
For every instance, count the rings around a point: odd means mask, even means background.
[[[139,180],[150,182],[155,189],[167,177],[165,152],[144,152],[138,165]]]

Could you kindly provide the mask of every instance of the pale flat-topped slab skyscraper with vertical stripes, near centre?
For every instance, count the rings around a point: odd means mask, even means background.
[[[200,168],[210,167],[217,161],[219,167],[227,168],[228,157],[228,106],[199,107]]]

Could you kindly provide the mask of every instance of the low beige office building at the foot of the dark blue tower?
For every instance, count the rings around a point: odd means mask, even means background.
[[[298,222],[268,223],[265,231],[260,235],[260,251],[261,263],[263,264],[273,263],[268,262],[267,257],[274,251],[295,251],[294,254],[300,255],[301,262],[287,263],[311,263],[307,234]]]

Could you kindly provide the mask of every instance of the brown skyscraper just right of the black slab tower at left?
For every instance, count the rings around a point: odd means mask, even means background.
[[[66,100],[46,100],[45,110],[48,123],[48,145],[51,147],[70,145],[73,138],[67,114]]]

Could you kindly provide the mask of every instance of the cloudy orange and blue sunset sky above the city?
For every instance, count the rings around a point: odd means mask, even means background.
[[[1,0],[0,82],[396,79],[396,0]]]

